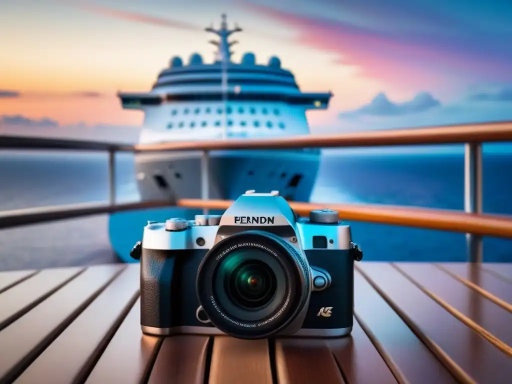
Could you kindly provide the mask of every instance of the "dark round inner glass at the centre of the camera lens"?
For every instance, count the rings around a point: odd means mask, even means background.
[[[236,255],[233,255],[236,258]],[[247,309],[267,305],[275,294],[277,281],[268,264],[260,260],[242,261],[224,282],[225,291],[234,304]]]

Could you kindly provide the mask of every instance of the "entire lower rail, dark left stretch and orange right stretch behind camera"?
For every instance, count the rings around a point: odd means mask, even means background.
[[[181,199],[178,200],[176,206],[224,210],[232,203],[232,200]],[[308,216],[309,211],[313,209],[331,208],[339,211],[339,218],[342,220],[474,233],[480,236],[512,238],[512,217],[510,216],[477,215],[454,210],[377,204],[289,203],[293,210],[301,216]],[[16,209],[0,212],[0,229],[157,207],[171,208],[173,204],[166,201],[120,203],[115,205],[108,203],[82,203]]]

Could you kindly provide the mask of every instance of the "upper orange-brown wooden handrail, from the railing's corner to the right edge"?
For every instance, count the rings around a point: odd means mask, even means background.
[[[290,148],[368,147],[498,141],[512,141],[512,122],[446,125],[401,130],[374,130],[337,135],[304,135],[273,139],[176,141],[161,144],[139,144],[135,145],[135,151],[279,150]]]

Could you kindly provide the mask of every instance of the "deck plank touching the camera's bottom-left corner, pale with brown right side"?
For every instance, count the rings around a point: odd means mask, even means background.
[[[144,382],[162,340],[141,332],[139,298],[94,366],[86,384]]]

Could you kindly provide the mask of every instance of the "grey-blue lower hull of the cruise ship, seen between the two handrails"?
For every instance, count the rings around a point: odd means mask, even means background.
[[[140,153],[135,157],[142,200],[202,198],[202,153]],[[287,200],[309,201],[318,174],[318,150],[213,151],[208,156],[208,198],[237,199],[248,189],[279,190]]]

